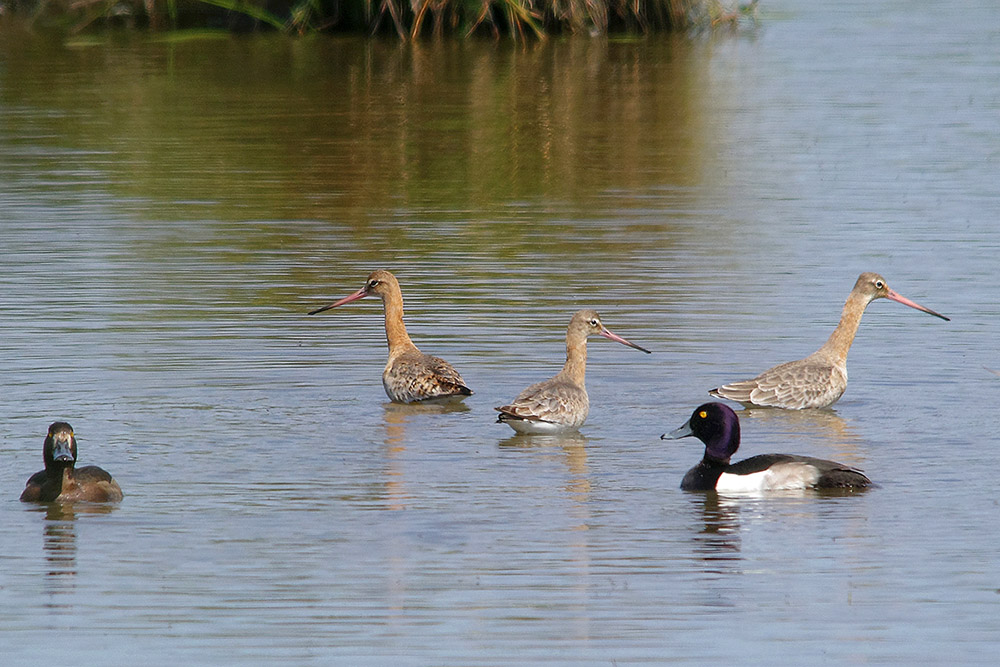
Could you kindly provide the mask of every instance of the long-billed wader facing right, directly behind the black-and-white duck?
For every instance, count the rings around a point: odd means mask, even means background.
[[[862,273],[847,297],[840,323],[823,347],[805,359],[780,364],[752,380],[724,384],[708,393],[746,405],[791,410],[833,405],[847,389],[847,352],[858,332],[861,315],[875,299],[892,299],[948,319],[889,289],[885,278],[877,273]]]

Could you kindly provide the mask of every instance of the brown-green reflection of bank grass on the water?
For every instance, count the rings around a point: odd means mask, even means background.
[[[53,85],[54,74],[10,43],[3,49],[12,54],[4,102],[56,112],[15,121],[43,124],[82,150],[113,146],[115,159],[100,163],[101,185],[108,204],[130,214],[331,221],[324,224],[342,225],[345,240],[431,253],[442,246],[428,230],[447,224],[474,247],[520,257],[562,243],[621,245],[624,237],[604,224],[621,207],[646,216],[631,229],[659,225],[649,210],[663,201],[688,210],[712,153],[699,84],[707,60],[690,57],[699,47],[679,37],[401,47],[280,35],[200,39],[206,33],[183,31],[179,38],[188,41],[173,48],[161,41],[169,34],[129,49],[74,38],[91,48],[55,64],[74,87]],[[164,62],[176,63],[170,74],[151,76],[148,64]],[[647,67],[652,62],[665,64]],[[248,72],[252,83],[241,79]],[[95,90],[87,82],[98,76],[100,95],[81,95],[81,87]],[[91,111],[88,102],[96,105],[88,117],[102,122],[74,122]],[[49,166],[44,155],[26,159]],[[74,184],[89,173],[58,166],[55,177]],[[576,223],[581,217],[584,226]],[[509,222],[529,224],[512,235]],[[289,239],[301,234],[285,227]]]

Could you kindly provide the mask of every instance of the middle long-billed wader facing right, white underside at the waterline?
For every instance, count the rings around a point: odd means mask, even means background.
[[[496,408],[497,422],[518,433],[557,433],[577,429],[587,420],[590,399],[584,386],[587,372],[587,337],[604,336],[649,354],[649,350],[611,333],[593,310],[573,315],[566,330],[566,363],[559,373],[533,384],[509,405]]]

